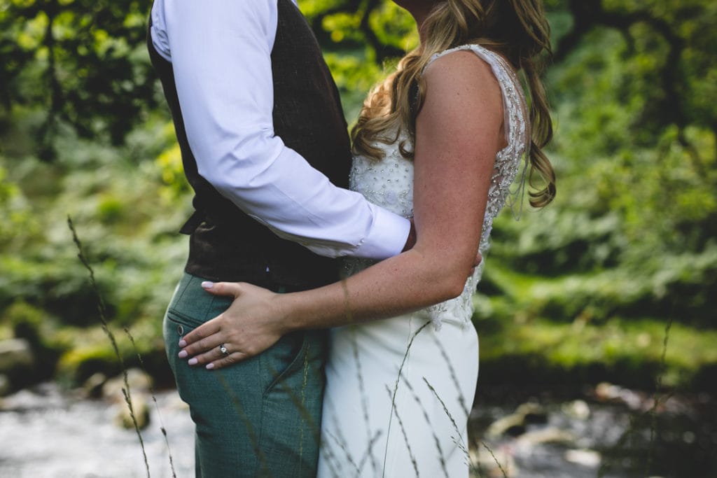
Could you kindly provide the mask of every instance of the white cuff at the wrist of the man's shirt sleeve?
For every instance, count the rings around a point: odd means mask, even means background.
[[[374,208],[374,224],[369,235],[351,254],[353,257],[387,259],[400,254],[406,245],[411,221],[386,209]]]

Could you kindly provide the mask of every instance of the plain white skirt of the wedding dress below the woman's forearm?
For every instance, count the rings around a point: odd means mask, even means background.
[[[468,476],[473,324],[415,312],[331,331],[318,477]]]

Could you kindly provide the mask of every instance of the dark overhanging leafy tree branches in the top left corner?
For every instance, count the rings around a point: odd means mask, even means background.
[[[0,105],[46,112],[39,153],[54,157],[60,123],[118,145],[155,107],[144,40],[148,2],[1,0]]]

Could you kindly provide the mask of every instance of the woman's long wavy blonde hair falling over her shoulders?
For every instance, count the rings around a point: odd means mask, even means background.
[[[540,78],[543,52],[551,54],[550,27],[541,0],[445,0],[438,1],[422,28],[423,42],[409,52],[389,75],[371,91],[359,120],[351,130],[353,148],[369,158],[381,159],[376,142],[393,143],[399,131],[407,133],[410,144],[416,135],[425,85],[422,72],[431,57],[462,44],[480,44],[496,52],[519,72],[529,91],[531,141],[528,152],[531,186],[530,204],[542,207],[555,197],[555,173],[542,148],[553,137],[546,92]],[[395,132],[395,134],[387,133]],[[412,149],[399,145],[405,158]]]

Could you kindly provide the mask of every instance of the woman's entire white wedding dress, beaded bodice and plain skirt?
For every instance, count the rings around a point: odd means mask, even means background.
[[[503,92],[508,145],[495,157],[480,239],[485,259],[493,218],[510,194],[528,144],[526,102],[511,67],[488,49],[465,45],[433,59],[457,49],[488,62]],[[413,163],[401,156],[399,141],[379,143],[382,161],[354,158],[351,188],[411,217]],[[349,273],[369,265],[360,259],[346,263]],[[478,379],[478,335],[470,318],[482,270],[480,264],[453,300],[331,331],[318,477],[468,476],[466,425]]]

